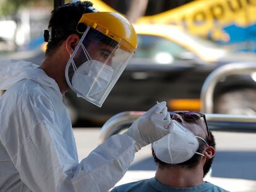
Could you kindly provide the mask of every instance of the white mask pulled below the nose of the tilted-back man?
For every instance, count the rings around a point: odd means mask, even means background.
[[[179,164],[189,160],[197,152],[199,142],[192,131],[186,128],[181,123],[173,120],[173,126],[170,128],[170,133],[152,144],[155,155],[161,161],[167,164]],[[203,140],[206,144],[207,142]]]

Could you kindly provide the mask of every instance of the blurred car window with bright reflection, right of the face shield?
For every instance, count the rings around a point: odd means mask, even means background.
[[[170,64],[184,52],[190,52],[179,44],[155,35],[138,35],[137,59],[148,59],[162,64]]]

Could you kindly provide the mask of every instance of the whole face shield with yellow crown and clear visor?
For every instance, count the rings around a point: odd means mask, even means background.
[[[119,28],[119,30],[117,30]],[[77,96],[101,107],[137,48],[132,25],[119,14],[83,14],[83,33],[66,66],[66,81]]]

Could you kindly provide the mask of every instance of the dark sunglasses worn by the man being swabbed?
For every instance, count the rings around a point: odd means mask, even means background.
[[[203,117],[203,120],[205,121],[205,125],[207,127],[207,137],[210,138],[210,133],[207,125],[207,120],[205,118],[205,114],[202,114],[200,112],[194,112],[194,111],[187,111],[187,112],[169,112],[171,115],[171,118],[173,118],[173,115],[178,114],[181,115],[182,119],[186,121],[194,121],[199,120],[201,117]]]

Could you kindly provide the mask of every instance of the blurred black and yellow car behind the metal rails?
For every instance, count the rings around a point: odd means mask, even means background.
[[[101,125],[122,111],[146,111],[156,101],[168,101],[169,111],[200,111],[200,91],[210,72],[231,62],[256,61],[254,54],[234,54],[191,36],[181,28],[145,24],[135,25],[135,30],[139,38],[138,49],[103,107],[95,107],[77,99],[74,93],[67,93],[70,106],[77,109],[73,117]],[[234,75],[218,83],[216,113],[229,113],[231,106],[223,107],[222,98],[234,92],[254,97],[256,83],[252,76]],[[256,114],[255,100],[256,97],[246,101],[251,107],[241,114]],[[244,101],[236,99],[235,102]],[[234,107],[233,111],[236,111]]]

